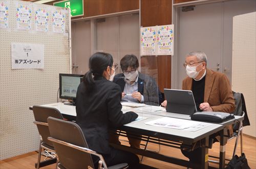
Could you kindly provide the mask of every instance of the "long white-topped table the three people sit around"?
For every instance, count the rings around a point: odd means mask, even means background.
[[[63,117],[68,118],[68,119],[74,120],[75,117],[76,117],[76,107],[75,106],[65,105],[63,103],[53,103],[53,104],[47,104],[47,105],[41,105],[41,106],[56,108],[60,111],[60,113],[63,115]],[[151,107],[152,107],[152,110],[151,110]],[[208,161],[207,160],[208,159],[208,148],[207,148],[207,145],[208,145],[208,142],[209,142],[209,136],[211,134],[216,133],[216,132],[220,132],[221,133],[220,134],[220,136],[221,136],[221,141],[220,141],[221,147],[220,147],[220,167],[219,168],[224,168],[225,167],[226,138],[224,137],[224,132],[225,132],[225,129],[226,129],[227,125],[233,124],[236,119],[240,120],[242,118],[241,116],[235,116],[235,119],[228,120],[225,123],[211,124],[208,127],[205,127],[205,128],[200,129],[198,131],[192,132],[192,131],[185,131],[185,130],[179,130],[179,129],[172,129],[172,128],[164,128],[164,127],[146,125],[145,122],[148,122],[148,121],[151,121],[151,120],[154,120],[154,119],[157,119],[157,118],[161,118],[163,116],[190,120],[190,116],[186,115],[186,114],[169,113],[169,112],[166,112],[164,109],[154,111],[156,109],[159,109],[159,108],[157,108],[155,106],[146,106],[144,108],[143,107],[141,107],[141,108],[127,108],[127,107],[125,107],[123,109],[123,112],[134,111],[139,116],[148,117],[148,118],[146,118],[144,120],[141,120],[139,122],[126,124],[126,125],[120,127],[118,130],[129,132],[129,133],[134,133],[135,137],[136,137],[136,135],[143,135],[142,140],[152,138],[152,140],[149,139],[149,142],[158,143],[157,139],[160,139],[161,140],[160,144],[163,144],[165,146],[169,145],[170,147],[176,147],[176,148],[177,148],[177,146],[180,146],[181,143],[185,144],[185,145],[193,145],[196,142],[200,141],[201,144],[202,144],[201,145],[202,154],[204,154],[202,156],[202,161],[206,161],[205,163],[201,164],[201,166],[200,166],[201,168],[207,168],[208,167],[208,163],[207,163],[207,161]],[[122,135],[122,133],[121,133],[121,135]],[[134,148],[126,147],[126,146],[123,146],[123,145],[112,145],[112,146],[114,146],[115,148],[121,149],[121,150],[131,151],[131,152],[136,153],[136,154],[140,154],[140,155],[143,155],[143,156],[159,159],[159,160],[166,161],[166,162],[175,163],[175,164],[178,164],[178,165],[187,166],[189,164],[189,162],[186,161],[186,160],[176,159],[176,158],[173,158],[173,157],[167,157],[167,156],[164,156],[164,155],[161,155],[161,154],[158,154],[158,153],[149,152],[147,150],[134,149]],[[193,164],[190,165],[190,166],[193,166]]]

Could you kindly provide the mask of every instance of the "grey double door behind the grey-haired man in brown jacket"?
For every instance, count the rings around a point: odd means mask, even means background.
[[[256,1],[228,1],[196,5],[194,10],[182,12],[178,8],[177,28],[178,59],[172,65],[177,72],[174,88],[181,88],[186,77],[182,66],[185,56],[191,51],[206,53],[207,68],[226,74],[231,83],[232,69],[232,18],[256,11]],[[175,62],[174,62],[175,63]],[[173,79],[174,80],[174,79]]]

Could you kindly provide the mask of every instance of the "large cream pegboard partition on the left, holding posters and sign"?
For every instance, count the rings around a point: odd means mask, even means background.
[[[1,1],[2,3],[4,1]],[[9,1],[9,28],[0,29],[0,160],[39,148],[39,134],[30,106],[57,102],[59,73],[70,73],[70,12],[60,7]],[[31,5],[31,30],[17,30],[16,5]],[[34,8],[49,10],[49,31],[35,31]],[[66,31],[52,31],[52,11],[66,14]],[[12,69],[11,43],[45,45],[44,69]]]

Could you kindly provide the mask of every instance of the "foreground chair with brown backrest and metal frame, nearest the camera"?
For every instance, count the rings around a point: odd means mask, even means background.
[[[99,157],[98,168],[100,169],[128,167],[127,163],[106,166],[102,155],[88,149],[88,144],[81,128],[74,122],[49,117],[48,124],[51,133],[48,139],[54,144],[60,169],[94,168],[91,155]]]

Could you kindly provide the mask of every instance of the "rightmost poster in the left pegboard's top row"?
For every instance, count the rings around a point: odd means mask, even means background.
[[[65,15],[63,11],[54,11],[52,14],[52,27],[55,33],[65,33]]]

